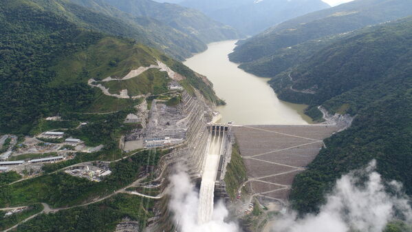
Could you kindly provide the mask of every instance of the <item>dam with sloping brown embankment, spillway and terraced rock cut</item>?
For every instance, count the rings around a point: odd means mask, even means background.
[[[150,220],[148,231],[180,232],[179,222],[172,220],[173,212],[168,207],[169,177],[175,173],[176,164],[183,163],[188,176],[199,187],[199,205],[197,211],[192,212],[197,215],[196,224],[206,224],[212,219],[217,199],[229,202],[224,180],[235,141],[247,173],[247,180],[239,185],[239,194],[244,193],[240,191],[244,188],[250,199],[281,210],[288,206],[294,176],[316,157],[324,146],[324,138],[345,127],[345,121],[321,125],[217,124],[213,123],[212,107],[198,93],[183,94],[182,102],[176,107],[153,101],[148,113],[147,138],[177,135],[182,136],[176,138],[183,138],[183,142],[169,145],[170,152],[160,158],[155,169],[157,178],[138,184],[142,189],[154,186],[160,191],[155,197],[158,210]],[[155,120],[171,110],[179,117]],[[250,201],[246,205],[249,204]]]

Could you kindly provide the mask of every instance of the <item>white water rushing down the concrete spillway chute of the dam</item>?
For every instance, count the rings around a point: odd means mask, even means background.
[[[197,213],[197,222],[199,224],[205,224],[212,220],[215,180],[224,135],[224,131],[212,131],[210,134],[210,145],[206,151],[206,162],[200,184],[199,209]]]

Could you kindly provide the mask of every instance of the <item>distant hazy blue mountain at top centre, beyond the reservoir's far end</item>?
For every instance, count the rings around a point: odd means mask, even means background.
[[[321,0],[184,0],[179,4],[201,10],[248,35],[308,12],[329,8]]]

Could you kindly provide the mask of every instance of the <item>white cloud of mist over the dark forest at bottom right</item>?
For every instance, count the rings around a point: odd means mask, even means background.
[[[384,181],[375,171],[376,161],[365,170],[351,172],[336,182],[334,191],[317,215],[297,219],[286,213],[274,225],[276,232],[382,232],[388,222],[401,217],[412,223],[409,199],[401,192],[402,184],[389,184],[393,194],[385,191]],[[362,180],[366,178],[365,184]],[[396,214],[396,215],[395,215]]]

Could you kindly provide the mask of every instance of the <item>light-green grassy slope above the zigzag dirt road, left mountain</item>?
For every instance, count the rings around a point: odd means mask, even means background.
[[[89,78],[123,77],[140,66],[155,64],[157,53],[127,39],[106,37],[87,50],[76,52],[52,67],[57,77],[50,85],[67,85]],[[153,56],[154,55],[154,56]]]

